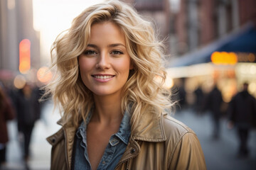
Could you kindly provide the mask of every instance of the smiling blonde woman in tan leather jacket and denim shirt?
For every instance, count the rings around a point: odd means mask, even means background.
[[[63,126],[51,169],[206,169],[196,134],[171,118],[162,43],[120,1],[91,6],[53,44],[48,94]]]

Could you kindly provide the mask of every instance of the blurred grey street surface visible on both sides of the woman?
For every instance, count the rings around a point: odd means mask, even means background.
[[[18,135],[15,121],[9,123],[10,142],[7,148],[7,164],[2,169],[50,169],[50,145],[46,137],[53,134],[60,128],[56,121],[60,118],[58,110],[53,113],[53,104],[46,103],[43,108],[41,120],[36,123],[31,140],[31,158],[28,164],[21,159],[21,149],[18,143]],[[211,137],[211,121],[208,114],[196,115],[192,110],[187,109],[178,112],[174,118],[192,128],[201,142],[206,157],[208,170],[212,169],[256,169],[256,131],[250,133],[250,156],[247,158],[237,157],[238,140],[235,129],[226,128],[226,120],[221,120],[221,133],[218,140]]]

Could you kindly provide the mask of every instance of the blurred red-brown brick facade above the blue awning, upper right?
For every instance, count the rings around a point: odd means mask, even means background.
[[[173,0],[170,0],[173,1]],[[171,4],[172,5],[172,4]],[[246,23],[256,24],[255,0],[179,0],[174,18],[177,56],[208,45]]]

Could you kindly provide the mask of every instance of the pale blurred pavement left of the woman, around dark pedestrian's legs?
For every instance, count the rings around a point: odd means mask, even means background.
[[[60,119],[58,109],[53,113],[53,103],[45,103],[41,113],[41,119],[37,121],[31,139],[31,157],[25,164],[21,155],[21,147],[18,142],[16,121],[9,123],[9,145],[7,146],[7,164],[2,169],[50,169],[50,145],[46,137],[56,132],[60,125],[56,122]]]

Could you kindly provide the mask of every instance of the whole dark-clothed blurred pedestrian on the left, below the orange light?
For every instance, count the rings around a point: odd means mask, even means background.
[[[16,105],[19,140],[23,147],[23,158],[28,161],[33,127],[40,118],[38,94],[33,91],[31,84],[18,91]]]

